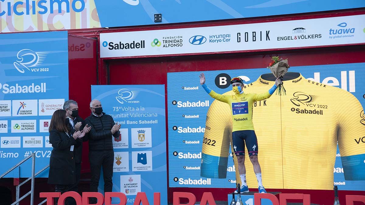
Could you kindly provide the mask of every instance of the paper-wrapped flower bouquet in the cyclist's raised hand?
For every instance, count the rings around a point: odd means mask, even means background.
[[[288,72],[288,68],[290,67],[288,65],[288,59],[279,58],[278,56],[273,56],[272,62],[269,63],[268,69],[271,70],[271,72],[274,74],[274,76],[280,77],[281,80],[283,80],[283,77]],[[283,83],[278,85],[278,88],[276,89],[276,94],[286,95],[286,90],[284,88]]]

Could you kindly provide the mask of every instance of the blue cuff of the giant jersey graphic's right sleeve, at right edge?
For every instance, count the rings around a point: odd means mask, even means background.
[[[365,180],[365,154],[341,156],[345,180]]]

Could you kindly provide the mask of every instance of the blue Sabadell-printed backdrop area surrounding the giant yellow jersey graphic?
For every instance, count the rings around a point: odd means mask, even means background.
[[[299,72],[304,78],[312,78],[312,80],[314,79],[318,82],[323,82],[325,78],[332,77],[331,79],[339,82],[339,85],[336,87],[349,91],[364,107],[365,88],[362,86],[364,84],[362,78],[365,74],[364,67],[365,63],[350,63],[296,66],[291,67],[289,71]],[[245,84],[249,84],[256,81],[261,74],[270,73],[270,70],[261,68],[204,71],[207,78],[206,84],[217,93],[225,93],[232,89],[231,86],[224,89],[216,86],[214,80],[222,73],[227,74],[227,78],[245,76]],[[228,156],[227,177],[225,179],[200,177],[201,147],[204,131],[198,130],[198,128],[205,128],[207,111],[214,99],[199,84],[199,74],[200,71],[168,73],[169,186],[235,187],[235,169],[231,156]],[[333,80],[329,82],[333,82]],[[182,107],[179,101],[200,101],[204,102],[204,105],[200,104],[200,107]],[[183,129],[188,127],[196,129],[195,131],[187,130],[185,132]],[[363,142],[360,141],[359,143]],[[338,185],[341,190],[365,190],[364,181],[345,180],[338,148],[334,167],[334,184]]]

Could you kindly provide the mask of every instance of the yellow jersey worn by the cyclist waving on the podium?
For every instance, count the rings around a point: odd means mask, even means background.
[[[209,95],[221,102],[225,102],[230,106],[232,122],[233,122],[233,130],[255,130],[252,122],[252,111],[253,111],[253,103],[260,100],[265,100],[271,96],[269,91],[266,91],[262,94],[252,94],[243,92],[242,94],[233,94],[233,95],[221,95],[213,90],[209,93]]]

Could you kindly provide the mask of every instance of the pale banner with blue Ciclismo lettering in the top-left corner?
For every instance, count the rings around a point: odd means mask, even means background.
[[[94,0],[3,0],[0,6],[0,32],[100,27]]]

